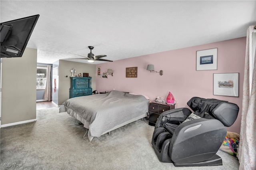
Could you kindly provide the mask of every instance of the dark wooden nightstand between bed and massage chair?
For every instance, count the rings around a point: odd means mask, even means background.
[[[166,103],[160,103],[158,101],[150,101],[149,108],[148,108],[149,110],[148,125],[155,126],[159,115],[164,111],[168,111],[171,109],[175,109],[175,103],[166,104]]]

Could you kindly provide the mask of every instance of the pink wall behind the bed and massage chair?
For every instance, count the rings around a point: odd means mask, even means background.
[[[194,96],[236,103],[240,108],[238,118],[227,129],[240,133],[245,46],[244,37],[98,64],[101,73],[112,69],[114,76],[96,77],[96,89],[144,94],[150,100],[157,96],[166,100],[170,91],[178,107],[188,107],[187,101]],[[218,48],[217,70],[196,71],[196,51],[211,48]],[[150,73],[146,70],[148,64],[164,74]],[[138,67],[138,77],[126,78],[126,67]],[[239,73],[239,97],[213,95],[213,73]]]

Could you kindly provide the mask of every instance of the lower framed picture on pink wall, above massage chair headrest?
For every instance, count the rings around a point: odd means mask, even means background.
[[[239,73],[214,73],[213,95],[239,97]]]

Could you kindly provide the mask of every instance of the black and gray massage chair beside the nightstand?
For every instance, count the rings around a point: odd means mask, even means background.
[[[239,107],[200,97],[192,97],[187,104],[201,118],[192,119],[188,108],[165,111],[158,117],[151,142],[158,159],[174,166],[222,165],[216,153],[225,139],[226,127],[236,121]]]

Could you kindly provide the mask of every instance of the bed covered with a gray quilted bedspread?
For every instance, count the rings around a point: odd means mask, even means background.
[[[60,106],[88,130],[88,138],[100,137],[148,114],[148,99],[144,95],[110,91],[105,94],[74,97]]]

